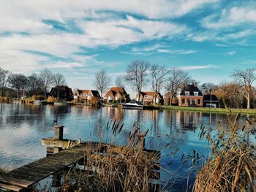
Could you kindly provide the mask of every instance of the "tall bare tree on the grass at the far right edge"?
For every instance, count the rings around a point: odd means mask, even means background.
[[[247,100],[247,109],[250,108],[252,83],[256,80],[255,71],[255,68],[248,68],[245,71],[235,70],[232,74],[236,82],[245,89],[244,97]]]

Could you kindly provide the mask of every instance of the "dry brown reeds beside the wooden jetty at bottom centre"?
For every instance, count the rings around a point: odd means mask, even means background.
[[[116,139],[122,128],[123,125],[116,122],[107,126],[110,137]],[[140,128],[134,128],[124,147],[99,142],[91,150],[87,148],[83,170],[75,174],[77,188],[85,191],[157,191],[154,179],[159,178],[156,171],[160,168],[157,164],[159,153],[144,150],[143,139],[148,131],[139,132]],[[69,172],[69,176],[74,177],[74,172]],[[66,185],[70,186],[70,177],[67,178]]]

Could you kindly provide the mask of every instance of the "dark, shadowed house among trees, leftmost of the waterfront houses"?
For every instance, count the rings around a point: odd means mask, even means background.
[[[51,88],[49,96],[56,101],[71,101],[73,99],[72,89],[64,85]]]

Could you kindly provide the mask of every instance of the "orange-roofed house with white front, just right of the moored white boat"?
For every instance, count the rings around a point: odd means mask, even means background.
[[[136,100],[138,101],[138,96],[137,96]],[[141,91],[140,92],[140,102],[142,102],[143,105],[150,105],[150,104],[162,105],[163,101],[164,101],[164,99],[159,92],[157,93],[156,103],[155,103],[155,92],[154,91]]]

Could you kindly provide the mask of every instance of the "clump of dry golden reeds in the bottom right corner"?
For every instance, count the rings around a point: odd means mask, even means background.
[[[211,154],[196,176],[193,191],[256,191],[255,146],[248,139],[255,128],[240,126],[240,113],[230,113],[227,119],[229,130],[219,125],[214,136],[211,128],[201,127],[200,139],[206,137]]]

